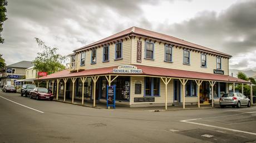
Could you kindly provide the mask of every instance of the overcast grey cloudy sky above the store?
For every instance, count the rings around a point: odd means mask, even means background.
[[[256,70],[256,1],[9,0],[7,17],[7,64],[35,59],[35,37],[67,55],[136,26],[231,54],[232,69]]]

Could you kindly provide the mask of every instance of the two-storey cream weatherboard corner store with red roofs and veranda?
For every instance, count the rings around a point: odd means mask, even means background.
[[[137,27],[75,49],[70,57],[67,70],[38,79],[53,87],[56,100],[92,100],[96,106],[106,103],[107,85],[116,85],[118,104],[200,107],[218,104],[229,85],[234,91],[235,84],[251,84],[229,76],[231,55]]]

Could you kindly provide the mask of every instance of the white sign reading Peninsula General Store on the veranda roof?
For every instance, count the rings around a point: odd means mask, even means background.
[[[141,74],[142,69],[137,69],[134,65],[120,65],[117,69],[113,69],[113,73],[119,74]]]

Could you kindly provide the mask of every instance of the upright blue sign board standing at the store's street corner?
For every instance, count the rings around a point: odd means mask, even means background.
[[[116,85],[107,85],[107,108],[116,108]]]

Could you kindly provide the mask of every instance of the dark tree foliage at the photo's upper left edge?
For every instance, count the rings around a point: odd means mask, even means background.
[[[0,0],[0,43],[2,43],[2,44],[4,42],[4,39],[2,38],[2,34],[1,34],[1,32],[3,31],[3,22],[7,20],[6,6],[7,6],[7,1]]]

